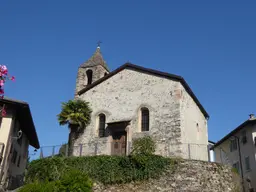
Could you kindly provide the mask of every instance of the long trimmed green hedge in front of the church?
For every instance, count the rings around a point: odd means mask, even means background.
[[[157,155],[53,157],[32,161],[26,182],[56,181],[69,170],[78,169],[104,184],[125,183],[158,177],[174,164],[174,160]]]

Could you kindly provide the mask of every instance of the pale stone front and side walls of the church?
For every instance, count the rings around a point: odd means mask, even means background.
[[[83,155],[111,154],[111,136],[98,137],[97,119],[103,113],[106,123],[130,121],[127,144],[150,135],[157,143],[156,154],[208,160],[207,121],[178,81],[124,69],[79,98],[88,101],[93,110],[90,125],[75,142],[75,145],[84,144]],[[142,107],[149,109],[147,132],[140,129]]]

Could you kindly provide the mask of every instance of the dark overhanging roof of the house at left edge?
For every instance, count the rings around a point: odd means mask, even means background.
[[[39,149],[40,144],[38,141],[33,118],[30,112],[29,104],[24,101],[10,99],[7,97],[4,97],[4,99],[0,99],[0,103],[7,104],[7,106],[12,105],[16,109],[16,118],[20,122],[22,132],[24,132],[24,134],[27,136],[29,144],[36,149]]]

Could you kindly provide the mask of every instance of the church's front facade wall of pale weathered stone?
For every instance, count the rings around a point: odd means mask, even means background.
[[[166,155],[167,141],[177,146],[173,154],[180,153],[180,101],[175,94],[179,82],[124,69],[113,77],[103,81],[83,93],[80,98],[88,101],[93,110],[92,119],[75,145],[97,143],[98,154],[111,153],[111,138],[99,138],[97,118],[100,113],[106,115],[106,123],[129,120],[128,142],[134,138],[149,134],[157,141],[157,154]],[[139,113],[147,107],[150,114],[149,131],[141,132]],[[92,145],[94,146],[94,145]],[[84,155],[93,154],[94,148],[88,148]],[[172,154],[172,155],[173,155]]]

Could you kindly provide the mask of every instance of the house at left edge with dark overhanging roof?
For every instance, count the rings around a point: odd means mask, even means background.
[[[40,146],[29,105],[0,99],[0,106],[7,111],[0,119],[0,188],[14,189],[23,183],[29,145]]]

